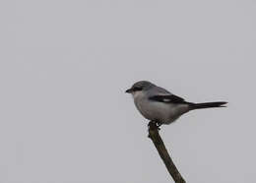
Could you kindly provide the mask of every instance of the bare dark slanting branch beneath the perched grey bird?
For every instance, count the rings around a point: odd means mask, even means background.
[[[149,123],[149,138],[153,141],[155,147],[160,153],[160,157],[163,160],[169,174],[176,183],[185,183],[186,181],[182,178],[181,174],[178,172],[175,164],[170,158],[165,146],[160,138],[159,133],[160,128],[153,121]]]

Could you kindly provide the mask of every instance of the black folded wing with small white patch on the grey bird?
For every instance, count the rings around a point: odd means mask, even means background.
[[[159,94],[149,97],[150,100],[159,101],[164,103],[188,103],[184,98],[175,94]]]

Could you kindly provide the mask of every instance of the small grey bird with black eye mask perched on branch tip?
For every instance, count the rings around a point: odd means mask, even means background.
[[[225,107],[226,101],[194,103],[148,81],[139,81],[126,91],[131,93],[135,106],[148,120],[158,126],[176,121],[191,110]]]

